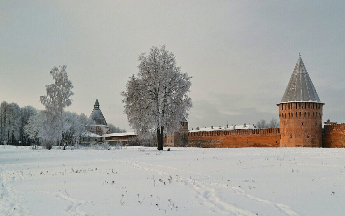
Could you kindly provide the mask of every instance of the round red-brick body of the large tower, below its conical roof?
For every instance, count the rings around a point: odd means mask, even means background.
[[[322,103],[278,104],[280,147],[322,147]]]

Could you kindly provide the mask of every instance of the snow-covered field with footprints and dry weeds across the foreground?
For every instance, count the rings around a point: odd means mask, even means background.
[[[345,149],[141,148],[0,146],[0,215],[345,214]]]

